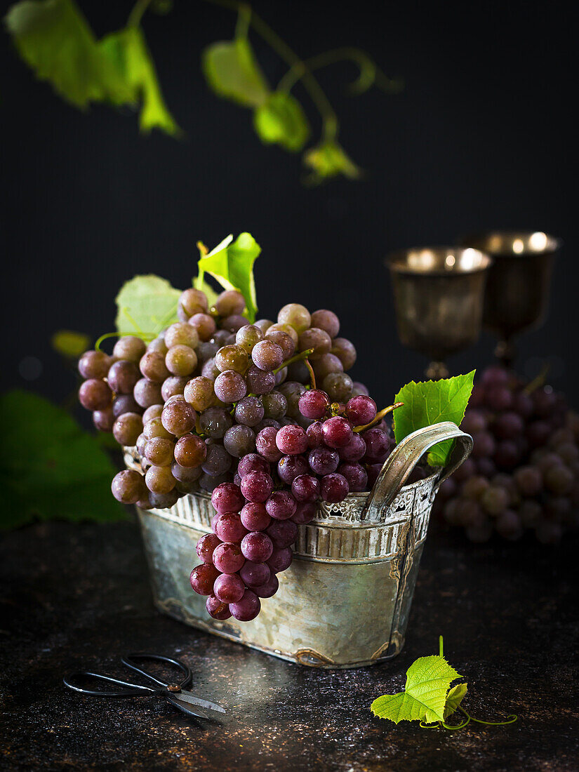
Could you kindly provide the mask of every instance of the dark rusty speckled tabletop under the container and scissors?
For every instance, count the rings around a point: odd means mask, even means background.
[[[577,540],[480,547],[434,530],[405,650],[350,671],[303,669],[158,614],[132,522],[39,524],[0,550],[3,770],[579,769]],[[469,711],[517,723],[451,733],[371,716],[416,657],[438,653],[439,634]],[[230,716],[201,728],[160,699],[63,687],[65,672],[114,673],[135,649],[185,659],[195,693]]]

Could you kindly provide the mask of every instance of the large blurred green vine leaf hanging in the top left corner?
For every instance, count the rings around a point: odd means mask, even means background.
[[[142,131],[179,134],[138,25],[99,42],[74,0],[22,0],[9,9],[5,24],[36,77],[76,107],[140,107]]]

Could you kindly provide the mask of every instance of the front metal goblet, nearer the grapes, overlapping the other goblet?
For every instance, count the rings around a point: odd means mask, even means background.
[[[446,357],[476,342],[486,273],[479,249],[402,249],[386,258],[394,289],[398,337],[431,359],[428,378],[445,378]]]

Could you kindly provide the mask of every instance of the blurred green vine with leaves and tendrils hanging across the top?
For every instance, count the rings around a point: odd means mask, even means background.
[[[338,141],[339,120],[334,107],[313,72],[340,61],[351,61],[359,73],[349,93],[364,93],[377,86],[388,93],[400,90],[361,49],[344,47],[301,59],[250,5],[236,0],[205,0],[237,15],[232,40],[215,42],[201,55],[201,69],[212,91],[224,99],[249,108],[253,126],[264,144],[303,153],[310,169],[306,181],[319,183],[344,175],[355,179],[361,170],[350,160]],[[5,16],[5,25],[19,55],[36,77],[48,81],[63,99],[82,110],[91,103],[132,107],[139,113],[141,132],[159,129],[180,136],[181,129],[164,103],[161,86],[142,29],[146,12],[165,13],[167,0],[137,0],[127,25],[98,40],[75,0],[17,2]],[[288,66],[276,87],[269,85],[249,41],[253,31]],[[63,45],[66,42],[66,45]],[[310,122],[293,95],[302,83],[313,107],[320,114],[320,139],[310,147]]]

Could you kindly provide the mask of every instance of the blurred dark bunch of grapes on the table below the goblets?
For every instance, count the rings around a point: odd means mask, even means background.
[[[563,394],[493,365],[473,388],[461,428],[474,447],[438,493],[448,523],[476,542],[531,531],[555,544],[579,527],[579,415]]]

